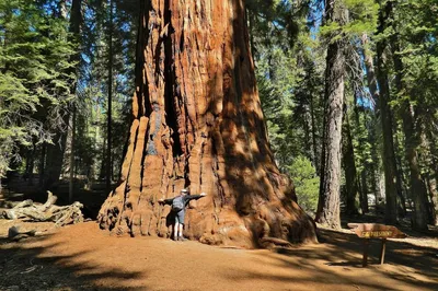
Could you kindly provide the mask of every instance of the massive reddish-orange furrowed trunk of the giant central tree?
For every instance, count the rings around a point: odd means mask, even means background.
[[[141,0],[140,15],[129,146],[101,228],[166,237],[157,201],[187,187],[208,194],[187,210],[192,240],[314,242],[268,147],[242,1]]]

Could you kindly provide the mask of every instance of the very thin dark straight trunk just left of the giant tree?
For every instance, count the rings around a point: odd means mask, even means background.
[[[113,102],[113,0],[110,0],[110,30],[108,30],[108,108],[106,119],[106,191],[111,190],[112,182],[112,102]]]

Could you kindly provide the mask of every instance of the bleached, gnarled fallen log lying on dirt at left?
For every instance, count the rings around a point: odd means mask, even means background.
[[[11,209],[1,210],[0,218],[55,222],[59,226],[83,221],[81,212],[81,208],[83,208],[82,203],[73,202],[69,206],[56,206],[55,202],[58,198],[50,191],[47,191],[47,201],[44,205],[33,202],[32,200],[24,200]]]

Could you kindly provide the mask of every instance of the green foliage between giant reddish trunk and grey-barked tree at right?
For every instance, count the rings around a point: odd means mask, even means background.
[[[269,3],[273,5],[268,8],[250,4],[254,9],[249,12],[250,18],[254,14],[250,31],[270,147],[278,166],[286,172],[300,154],[315,163],[312,149],[318,146],[312,147],[312,135],[320,136],[321,129],[323,54],[318,51],[318,39],[312,38],[307,26],[307,4]],[[273,9],[281,13],[272,13]],[[289,25],[285,24],[286,19]]]

